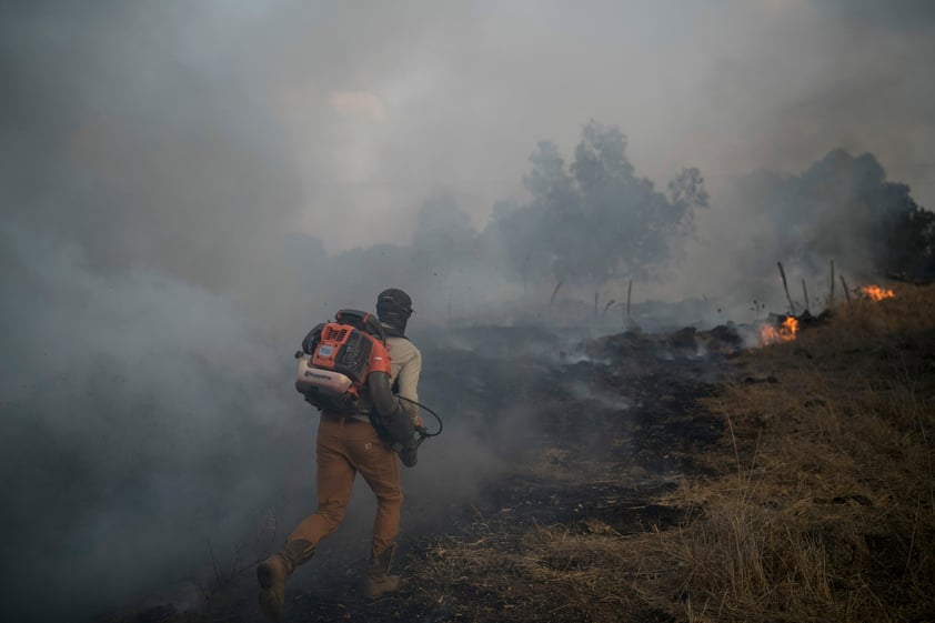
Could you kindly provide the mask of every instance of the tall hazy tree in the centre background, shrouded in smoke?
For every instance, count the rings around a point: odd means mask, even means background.
[[[621,272],[644,275],[668,258],[670,239],[690,229],[694,209],[707,205],[696,169],[670,184],[676,194],[668,201],[652,181],[635,175],[620,129],[593,120],[582,128],[567,170],[547,141],[530,161],[523,181],[532,200],[495,213],[491,225],[524,280],[596,284]]]

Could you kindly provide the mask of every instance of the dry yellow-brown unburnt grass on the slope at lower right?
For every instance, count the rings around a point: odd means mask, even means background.
[[[420,596],[449,620],[935,620],[935,288],[842,305],[737,365],[705,401],[726,432],[701,460],[721,475],[663,501],[694,519],[491,526],[433,547]]]

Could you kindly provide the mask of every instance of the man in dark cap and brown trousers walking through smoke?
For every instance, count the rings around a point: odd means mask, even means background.
[[[376,315],[388,332],[390,372],[369,374],[363,400],[373,405],[378,421],[386,426],[378,432],[365,413],[322,411],[315,445],[318,510],[295,526],[285,546],[257,567],[260,606],[273,621],[282,620],[289,576],[296,566],[311,560],[318,543],[332,534],[344,519],[358,472],[376,496],[364,592],[369,597],[376,597],[400,587],[400,576],[389,574],[403,501],[400,465],[391,443],[395,442],[406,466],[415,465],[414,426],[421,426],[422,422],[414,401],[419,399],[422,354],[405,338],[405,325],[412,315],[409,294],[395,288],[384,290],[378,297]],[[400,396],[408,399],[403,400],[405,406],[392,394],[394,383],[399,384]]]

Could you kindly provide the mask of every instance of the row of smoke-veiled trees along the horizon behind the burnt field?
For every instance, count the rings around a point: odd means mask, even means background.
[[[817,314],[835,290],[844,295],[845,275],[848,288],[935,275],[933,213],[868,153],[832,150],[797,175],[751,173],[713,207],[697,169],[667,193],[639,177],[615,127],[585,124],[570,164],[550,143],[531,161],[532,198],[499,204],[483,230],[442,197],[422,204],[412,247],[335,262],[410,275],[435,323],[604,332],[753,320],[790,300]]]

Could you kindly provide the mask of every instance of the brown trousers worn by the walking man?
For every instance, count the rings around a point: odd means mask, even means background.
[[[360,472],[376,495],[372,553],[379,555],[391,547],[400,532],[403,503],[400,463],[393,449],[369,423],[323,413],[315,453],[318,511],[302,520],[289,540],[318,544],[338,530],[348,510],[354,478]]]

